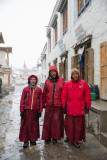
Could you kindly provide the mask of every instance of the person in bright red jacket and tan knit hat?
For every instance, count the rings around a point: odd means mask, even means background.
[[[91,106],[91,94],[88,84],[81,80],[79,70],[71,71],[71,80],[62,90],[62,107],[66,111],[65,131],[69,141],[80,148],[79,141],[86,140],[85,135],[85,106]],[[67,107],[67,109],[66,109]]]

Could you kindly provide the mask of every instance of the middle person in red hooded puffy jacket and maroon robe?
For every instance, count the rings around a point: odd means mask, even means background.
[[[43,107],[45,108],[42,139],[45,143],[57,143],[63,138],[64,124],[61,104],[61,92],[64,79],[59,77],[56,66],[49,69],[49,77],[43,89]]]

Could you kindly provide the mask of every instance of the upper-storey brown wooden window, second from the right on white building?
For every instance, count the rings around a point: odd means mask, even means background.
[[[68,30],[68,6],[65,7],[63,12],[63,35]]]

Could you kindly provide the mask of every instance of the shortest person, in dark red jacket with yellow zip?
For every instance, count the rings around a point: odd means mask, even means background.
[[[39,117],[42,112],[42,90],[37,86],[35,75],[28,77],[28,86],[23,89],[20,102],[21,127],[19,139],[23,147],[36,145],[39,138]]]

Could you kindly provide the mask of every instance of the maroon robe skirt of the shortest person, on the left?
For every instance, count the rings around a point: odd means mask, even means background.
[[[37,141],[39,137],[38,111],[27,109],[25,117],[21,118],[19,139],[21,142],[27,142]]]

